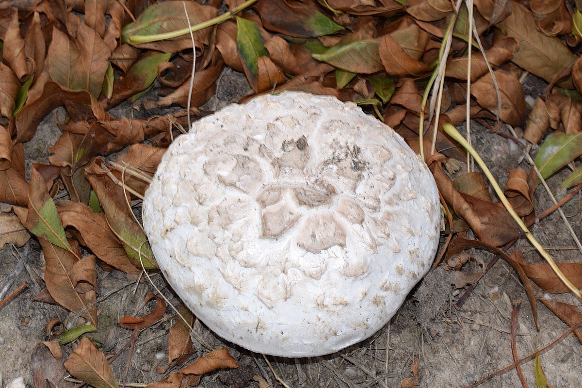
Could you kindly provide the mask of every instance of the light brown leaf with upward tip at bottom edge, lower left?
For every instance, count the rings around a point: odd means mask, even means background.
[[[65,368],[72,376],[95,388],[119,388],[107,358],[85,337],[74,348]]]

